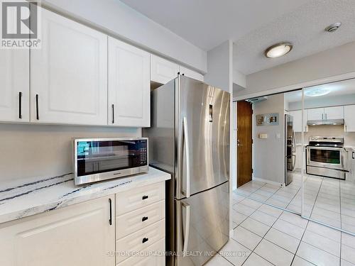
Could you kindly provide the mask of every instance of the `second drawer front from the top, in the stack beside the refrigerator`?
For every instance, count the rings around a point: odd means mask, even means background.
[[[165,201],[116,217],[116,239],[123,238],[165,217]]]

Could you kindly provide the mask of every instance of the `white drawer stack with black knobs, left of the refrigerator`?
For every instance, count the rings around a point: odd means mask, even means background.
[[[116,194],[116,265],[165,265],[164,195],[165,182]]]

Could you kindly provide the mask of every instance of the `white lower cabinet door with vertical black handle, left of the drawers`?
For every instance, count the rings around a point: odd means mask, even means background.
[[[114,196],[0,225],[0,265],[114,266]],[[111,255],[110,255],[111,254]]]

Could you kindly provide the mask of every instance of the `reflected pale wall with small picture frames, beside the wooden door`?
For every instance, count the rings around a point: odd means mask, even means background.
[[[256,115],[263,113],[278,113],[279,125],[256,126]],[[268,100],[253,104],[253,177],[285,183],[284,115],[283,94],[268,96]],[[267,133],[268,138],[258,138],[259,133]]]

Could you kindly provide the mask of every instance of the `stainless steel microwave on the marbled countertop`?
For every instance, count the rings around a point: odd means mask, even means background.
[[[148,138],[76,138],[74,183],[148,172]]]

